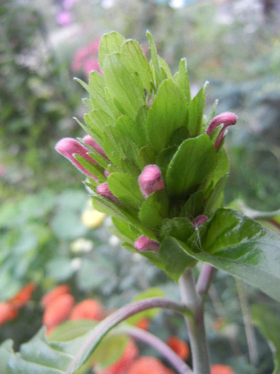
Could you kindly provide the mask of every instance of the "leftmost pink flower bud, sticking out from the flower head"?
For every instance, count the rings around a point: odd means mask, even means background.
[[[81,145],[78,140],[73,139],[72,137],[63,137],[63,139],[59,140],[59,142],[56,143],[56,150],[64,157],[68,158],[68,160],[71,161],[73,165],[78,167],[78,170],[83,172],[85,175],[88,175],[88,177],[95,180],[98,179],[97,177],[95,177],[95,175],[86,170],[85,167],[83,167],[83,165],[81,165],[75,157],[73,157],[73,155],[76,154],[82,156],[83,158],[85,158],[85,160],[88,160],[95,164],[97,163],[95,162],[95,160],[93,160],[92,157],[90,157],[90,155],[88,155],[88,148],[85,148],[83,145]]]

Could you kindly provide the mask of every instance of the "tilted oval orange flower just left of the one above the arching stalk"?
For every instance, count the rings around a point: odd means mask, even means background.
[[[62,294],[48,303],[43,313],[43,325],[51,329],[58,326],[59,323],[66,321],[71,313],[75,300],[71,294]]]

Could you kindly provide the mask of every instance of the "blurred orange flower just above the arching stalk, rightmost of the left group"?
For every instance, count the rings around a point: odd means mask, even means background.
[[[103,306],[98,301],[88,298],[74,306],[69,319],[87,318],[101,321],[104,316]]]

